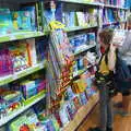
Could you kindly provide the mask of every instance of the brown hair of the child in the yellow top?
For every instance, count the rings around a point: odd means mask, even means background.
[[[99,33],[99,38],[105,45],[110,45],[110,41],[112,39],[112,35],[114,35],[114,29],[112,28],[104,28]]]

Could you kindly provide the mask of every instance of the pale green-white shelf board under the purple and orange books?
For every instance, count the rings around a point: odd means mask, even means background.
[[[10,82],[13,82],[13,81],[15,81],[17,79],[21,79],[23,76],[26,76],[28,74],[32,74],[32,73],[34,73],[34,72],[36,72],[38,70],[41,70],[41,69],[45,68],[45,64],[46,64],[46,60],[43,61],[41,63],[38,63],[38,64],[33,66],[31,68],[27,68],[27,69],[25,69],[23,71],[20,71],[20,72],[16,72],[14,74],[10,74],[10,75],[0,78],[0,86],[4,85],[4,84],[8,84]]]

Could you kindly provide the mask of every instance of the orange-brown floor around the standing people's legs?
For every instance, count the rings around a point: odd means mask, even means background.
[[[115,97],[115,102],[121,102],[121,95]],[[131,109],[131,104],[130,104]],[[90,127],[96,127],[98,124],[98,105],[94,111],[87,117],[78,131],[87,131]],[[131,131],[131,117],[115,116],[114,131]]]

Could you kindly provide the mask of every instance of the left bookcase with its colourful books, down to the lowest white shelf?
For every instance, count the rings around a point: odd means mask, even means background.
[[[4,131],[11,130],[11,123],[28,109],[34,109],[39,102],[46,102],[47,60],[44,44],[48,45],[48,34],[38,27],[37,11],[34,9],[36,4],[31,10],[22,9],[21,3],[26,2],[0,1],[2,66],[0,70],[0,130]]]

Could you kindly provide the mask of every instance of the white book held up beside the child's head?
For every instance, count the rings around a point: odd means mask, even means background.
[[[123,29],[115,29],[114,37],[111,43],[114,45],[122,46],[126,39],[126,31]]]

